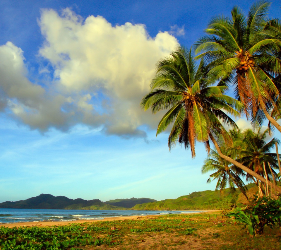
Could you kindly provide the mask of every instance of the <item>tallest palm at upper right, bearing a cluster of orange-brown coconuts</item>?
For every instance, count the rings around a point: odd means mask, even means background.
[[[281,40],[273,25],[266,24],[269,5],[265,1],[253,4],[247,17],[234,7],[232,19],[212,18],[207,35],[195,47],[196,53],[203,52],[197,58],[205,58],[232,78],[235,97],[244,104],[247,117],[251,113],[258,122],[266,117],[281,132],[281,126],[270,116],[279,96],[274,76],[281,72],[281,64],[274,54],[280,51]],[[255,119],[258,111],[259,118]]]

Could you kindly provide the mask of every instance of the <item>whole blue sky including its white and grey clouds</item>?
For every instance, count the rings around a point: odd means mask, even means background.
[[[245,13],[254,1],[235,1]],[[40,194],[177,198],[214,190],[207,157],[140,108],[155,64],[233,1],[0,0],[0,202]],[[280,18],[272,1],[269,18]],[[249,121],[237,124],[248,128]]]

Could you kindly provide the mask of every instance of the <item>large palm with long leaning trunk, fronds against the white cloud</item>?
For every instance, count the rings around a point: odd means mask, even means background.
[[[222,83],[227,81],[227,76],[206,65],[203,59],[196,64],[191,49],[179,46],[171,56],[157,63],[151,91],[143,97],[141,106],[145,110],[151,108],[153,114],[168,109],[158,124],[156,136],[172,124],[168,138],[170,149],[177,142],[184,143],[195,157],[196,141],[203,142],[209,152],[210,139],[223,159],[266,183],[264,177],[220,150],[220,143],[231,143],[222,123],[237,127],[227,113],[239,116],[243,108],[241,102],[224,94],[226,87]]]

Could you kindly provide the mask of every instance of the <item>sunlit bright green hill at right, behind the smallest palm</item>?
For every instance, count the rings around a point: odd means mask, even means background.
[[[247,194],[249,198],[256,193],[255,184],[247,185]],[[181,196],[177,199],[167,199],[164,201],[150,202],[138,204],[131,208],[132,210],[215,210],[229,209],[233,206],[242,206],[246,204],[246,198],[239,189],[237,192],[231,191],[229,188],[223,190],[222,196],[220,191],[199,191],[189,195]]]

